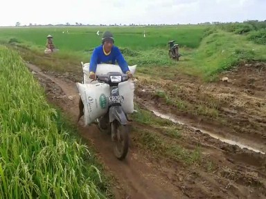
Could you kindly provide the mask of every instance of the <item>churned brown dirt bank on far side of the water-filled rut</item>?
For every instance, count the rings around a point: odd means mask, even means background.
[[[175,81],[140,79],[136,95],[186,123],[265,152],[266,64],[243,64],[222,77],[228,82],[202,84],[181,75]]]

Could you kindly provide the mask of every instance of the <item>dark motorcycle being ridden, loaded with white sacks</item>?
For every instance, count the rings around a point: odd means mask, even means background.
[[[97,75],[96,79],[100,83],[109,84],[110,97],[108,97],[108,111],[105,115],[98,118],[97,124],[100,131],[111,133],[112,142],[114,142],[114,154],[118,160],[123,160],[129,148],[129,129],[127,126],[127,115],[124,113],[121,103],[124,97],[119,95],[118,84],[127,81],[126,74],[110,72],[107,75]]]

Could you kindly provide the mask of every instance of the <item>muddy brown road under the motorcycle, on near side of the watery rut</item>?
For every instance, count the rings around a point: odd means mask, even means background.
[[[48,100],[60,106],[75,121],[78,117],[78,90],[72,78],[41,71],[31,64],[28,67],[44,86]],[[136,101],[143,108],[154,107],[145,98]],[[156,108],[163,112],[163,108]],[[100,161],[116,179],[113,187],[116,198],[266,198],[265,155],[221,142],[191,126],[176,125],[185,132],[179,140],[165,135],[161,129],[133,122],[130,151],[123,162],[116,160],[111,139],[100,133],[96,126],[84,127],[80,121],[78,129],[83,138],[94,144]],[[154,135],[163,140],[165,145],[157,143],[155,148],[184,146],[195,149],[199,146],[201,163],[186,165],[175,157],[163,157],[161,153],[147,150],[145,143],[139,144],[140,139],[145,138],[141,136],[145,135],[138,129],[147,130],[146,133],[152,129]]]

